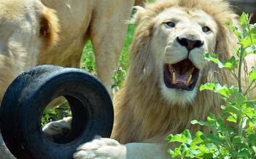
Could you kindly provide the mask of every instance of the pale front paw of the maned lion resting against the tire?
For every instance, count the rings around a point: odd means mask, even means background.
[[[110,138],[96,136],[94,140],[82,144],[74,154],[75,159],[85,158],[125,158],[126,147]]]

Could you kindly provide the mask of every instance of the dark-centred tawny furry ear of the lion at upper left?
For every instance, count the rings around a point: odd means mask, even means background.
[[[55,10],[44,7],[40,17],[39,37],[45,49],[53,46],[58,41],[59,19]]]

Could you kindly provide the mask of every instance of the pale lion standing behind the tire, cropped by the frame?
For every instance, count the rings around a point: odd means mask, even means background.
[[[1,0],[0,103],[11,81],[29,68],[80,68],[88,40],[98,78],[113,97],[110,77],[118,67],[133,4],[134,0]],[[3,141],[0,144],[3,150]]]

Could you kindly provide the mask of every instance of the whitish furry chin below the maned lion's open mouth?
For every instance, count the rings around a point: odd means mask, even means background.
[[[197,83],[192,91],[184,89],[168,88],[164,83],[161,85],[161,93],[163,97],[168,101],[169,105],[180,105],[180,107],[186,107],[192,105],[196,98],[199,84]]]

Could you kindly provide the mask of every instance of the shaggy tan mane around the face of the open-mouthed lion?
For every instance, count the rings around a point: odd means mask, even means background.
[[[193,119],[205,121],[209,111],[218,113],[222,101],[217,93],[199,91],[199,86],[215,80],[218,80],[221,85],[233,84],[231,74],[226,70],[219,70],[217,64],[213,62],[206,63],[203,58],[193,61],[201,63],[198,65],[201,67],[199,75],[201,77],[192,95],[190,95],[191,91],[185,93],[182,91],[179,93],[179,90],[170,91],[162,84],[163,69],[161,67],[166,58],[164,51],[160,58],[156,58],[155,54],[159,52],[152,51],[156,50],[152,40],[156,38],[158,31],[159,19],[156,17],[169,9],[182,9],[188,12],[203,11],[203,14],[209,15],[216,24],[213,28],[215,38],[211,39],[215,44],[212,48],[214,54],[218,54],[221,61],[235,55],[237,37],[225,22],[229,21],[231,25],[237,26],[237,15],[231,11],[227,1],[159,0],[146,5],[144,9],[137,7],[138,11],[133,21],[138,26],[130,53],[130,68],[124,85],[114,101],[115,119],[112,138],[121,144],[160,141],[164,144],[166,136],[171,133],[181,133],[184,129],[190,129],[192,134],[196,131],[208,132],[208,129],[192,125],[190,121]],[[168,40],[173,38],[171,35]],[[166,39],[160,40],[163,45],[168,45]],[[209,48],[207,49],[210,54],[213,54]],[[179,54],[174,56],[174,59],[179,56]],[[165,91],[170,92],[170,96],[173,97],[168,97]]]

